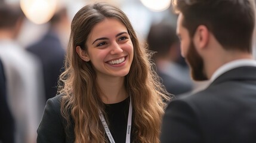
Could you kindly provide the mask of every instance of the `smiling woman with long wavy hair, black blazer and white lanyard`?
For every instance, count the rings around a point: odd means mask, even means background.
[[[59,95],[47,101],[37,142],[159,142],[169,94],[149,59],[119,8],[83,7],[73,18]]]

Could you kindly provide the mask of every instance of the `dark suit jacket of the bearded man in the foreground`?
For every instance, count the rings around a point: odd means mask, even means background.
[[[255,143],[256,67],[238,67],[205,90],[169,103],[162,143]]]

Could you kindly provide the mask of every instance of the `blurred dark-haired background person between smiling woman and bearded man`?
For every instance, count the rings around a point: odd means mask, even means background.
[[[170,23],[152,24],[147,35],[153,60],[166,90],[174,95],[189,92],[193,88],[187,64],[181,64],[179,39]],[[184,60],[183,60],[184,61]]]

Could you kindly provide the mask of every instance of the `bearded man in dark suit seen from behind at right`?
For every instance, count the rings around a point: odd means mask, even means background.
[[[181,55],[206,89],[171,101],[161,142],[256,142],[255,5],[250,0],[177,0]]]

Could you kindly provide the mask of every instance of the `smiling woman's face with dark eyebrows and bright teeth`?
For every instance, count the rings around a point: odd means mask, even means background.
[[[97,23],[87,39],[87,55],[97,77],[124,77],[129,73],[134,48],[127,27],[115,18]]]

